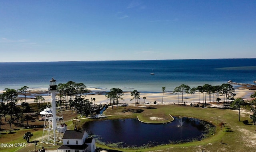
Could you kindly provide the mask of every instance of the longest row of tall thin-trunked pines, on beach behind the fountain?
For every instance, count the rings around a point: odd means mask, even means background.
[[[206,105],[206,98],[208,94],[208,101],[213,101],[214,97],[211,95],[216,94],[216,101],[220,101],[219,95],[223,95],[223,101],[225,99],[228,101],[229,99],[233,99],[236,94],[234,94],[235,89],[231,84],[222,84],[221,86],[212,86],[210,84],[204,84],[203,86],[198,86],[190,89],[190,86],[182,84],[174,89],[174,93],[178,94],[178,104],[179,104],[179,93],[182,93],[182,103],[184,102],[183,94],[187,95],[187,103],[188,103],[188,94],[195,94],[196,92],[199,93],[199,104],[200,104],[200,94],[203,94],[203,101]]]

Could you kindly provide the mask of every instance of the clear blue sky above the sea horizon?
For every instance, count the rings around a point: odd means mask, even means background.
[[[256,58],[255,0],[1,0],[0,62]]]

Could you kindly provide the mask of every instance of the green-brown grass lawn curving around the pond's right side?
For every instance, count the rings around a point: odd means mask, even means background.
[[[170,114],[172,116],[193,117],[211,122],[216,126],[216,133],[202,141],[188,142],[183,144],[168,144],[164,146],[156,146],[150,149],[124,150],[120,151],[209,151],[209,152],[230,152],[230,151],[247,151],[254,152],[256,148],[255,127],[252,125],[249,114],[241,113],[240,122],[238,121],[238,111],[231,109],[217,108],[199,108],[184,105],[151,105],[155,107],[148,109],[145,107],[114,107],[107,109],[104,114],[112,115],[111,119],[120,117],[136,117],[148,120],[150,117],[163,118],[163,115]],[[109,119],[109,118],[108,118]],[[245,125],[242,121],[248,120],[250,123]],[[150,121],[152,121],[150,119]],[[157,121],[157,120],[156,120]],[[220,122],[224,122],[225,126],[218,126]],[[101,145],[98,145],[99,147]],[[102,146],[103,148],[105,146]]]

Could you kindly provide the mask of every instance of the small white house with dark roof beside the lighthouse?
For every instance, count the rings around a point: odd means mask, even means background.
[[[86,131],[66,130],[63,138],[63,145],[57,152],[95,152],[95,139],[88,137]]]

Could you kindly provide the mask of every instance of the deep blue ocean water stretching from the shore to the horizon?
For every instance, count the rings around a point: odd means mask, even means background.
[[[154,75],[150,75],[151,72]],[[256,58],[198,60],[128,60],[75,62],[0,62],[0,90],[48,88],[73,81],[87,88],[120,88],[139,92],[173,91],[186,84],[221,85],[228,80],[250,83],[256,80]]]

